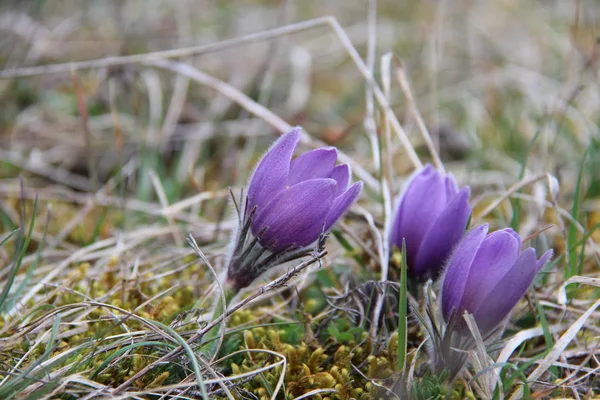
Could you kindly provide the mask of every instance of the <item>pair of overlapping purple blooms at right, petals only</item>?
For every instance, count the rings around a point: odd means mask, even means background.
[[[444,176],[426,166],[412,177],[400,198],[390,240],[398,248],[405,241],[413,278],[443,275],[446,322],[460,319],[452,326],[467,334],[462,323],[467,312],[486,336],[523,297],[552,251],[539,260],[533,248],[520,253],[521,237],[512,229],[486,236],[484,224],[465,234],[471,215],[469,193],[468,187],[458,190],[451,174]]]

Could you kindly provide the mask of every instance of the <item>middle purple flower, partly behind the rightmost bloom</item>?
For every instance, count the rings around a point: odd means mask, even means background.
[[[470,189],[457,189],[452,174],[427,165],[412,177],[396,209],[390,233],[392,246],[406,241],[409,273],[419,279],[436,278],[452,248],[463,235],[471,207]]]

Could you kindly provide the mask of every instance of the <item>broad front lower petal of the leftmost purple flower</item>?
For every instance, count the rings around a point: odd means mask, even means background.
[[[280,192],[252,222],[259,242],[273,252],[308,246],[319,238],[331,209],[336,182],[311,179]]]

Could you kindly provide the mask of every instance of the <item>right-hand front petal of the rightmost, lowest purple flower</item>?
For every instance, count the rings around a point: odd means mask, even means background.
[[[479,300],[473,312],[477,326],[483,335],[489,333],[508,315],[523,297],[538,272],[535,250],[526,249],[510,271]]]

